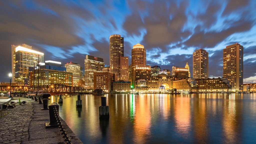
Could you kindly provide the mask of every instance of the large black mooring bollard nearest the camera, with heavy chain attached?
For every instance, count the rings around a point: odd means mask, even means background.
[[[58,127],[57,118],[55,117],[55,108],[57,108],[57,111],[59,111],[59,105],[53,102],[51,105],[49,105],[49,115],[50,115],[50,122],[45,123],[46,128],[50,127]]]

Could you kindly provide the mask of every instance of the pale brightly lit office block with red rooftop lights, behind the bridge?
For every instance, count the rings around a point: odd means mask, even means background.
[[[77,63],[70,62],[65,64],[65,68],[67,69],[67,72],[70,72],[73,74],[73,86],[78,87],[78,81],[82,79],[80,65]]]

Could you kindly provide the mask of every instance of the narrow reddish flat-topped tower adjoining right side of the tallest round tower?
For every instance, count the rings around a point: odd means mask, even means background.
[[[120,57],[120,81],[128,81],[128,57]]]

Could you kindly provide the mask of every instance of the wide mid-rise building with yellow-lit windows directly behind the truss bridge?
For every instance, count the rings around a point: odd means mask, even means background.
[[[30,78],[30,86],[35,86],[35,88],[48,84],[73,85],[73,74],[66,71],[39,68],[31,73]]]

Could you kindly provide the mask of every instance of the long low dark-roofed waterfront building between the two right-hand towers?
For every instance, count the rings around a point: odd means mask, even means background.
[[[199,92],[229,92],[229,80],[227,78],[196,79]]]

